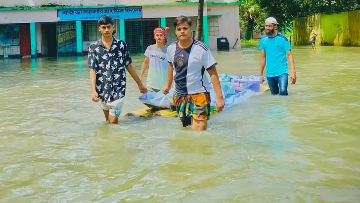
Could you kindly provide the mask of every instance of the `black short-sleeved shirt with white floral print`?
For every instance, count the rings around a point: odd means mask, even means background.
[[[113,38],[108,50],[101,38],[91,43],[88,65],[96,72],[96,92],[101,101],[109,103],[125,96],[126,68],[132,58],[126,43]]]

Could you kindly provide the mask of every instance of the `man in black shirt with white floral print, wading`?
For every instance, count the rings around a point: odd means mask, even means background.
[[[114,20],[103,15],[98,20],[101,38],[91,43],[88,64],[92,101],[101,100],[106,122],[118,123],[126,89],[126,70],[134,78],[141,93],[147,89],[138,77],[126,43],[113,38]]]

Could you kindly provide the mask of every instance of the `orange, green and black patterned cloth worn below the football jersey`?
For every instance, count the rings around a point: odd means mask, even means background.
[[[174,93],[174,105],[182,124],[186,117],[196,120],[210,119],[210,93],[198,93],[193,95],[179,95]],[[187,123],[188,125],[189,123]]]

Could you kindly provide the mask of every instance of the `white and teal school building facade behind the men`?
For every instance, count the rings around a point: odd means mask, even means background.
[[[130,2],[131,1],[131,2]],[[204,0],[203,42],[217,48],[217,38],[240,47],[239,2]],[[32,4],[29,4],[31,2]],[[195,35],[197,1],[180,0],[9,0],[0,2],[0,58],[87,54],[100,37],[97,19],[116,19],[115,37],[124,40],[132,54],[143,53],[154,43],[156,27],[170,27],[168,43],[176,41],[174,19],[192,19]],[[151,2],[151,3],[149,3]]]

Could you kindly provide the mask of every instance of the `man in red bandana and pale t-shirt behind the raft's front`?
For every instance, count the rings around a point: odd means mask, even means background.
[[[159,92],[166,85],[169,66],[166,59],[166,43],[169,30],[169,27],[165,29],[156,28],[154,30],[155,44],[147,47],[144,53],[145,57],[141,65],[140,79],[142,81],[148,67],[149,70],[146,81],[148,91]]]

